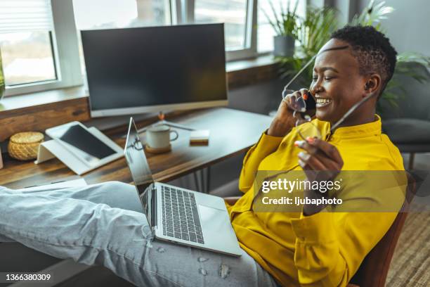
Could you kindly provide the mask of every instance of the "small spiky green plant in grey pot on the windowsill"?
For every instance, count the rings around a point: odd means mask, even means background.
[[[273,37],[273,54],[275,56],[288,57],[294,55],[295,40],[299,32],[299,16],[296,13],[298,3],[297,1],[292,10],[290,10],[289,1],[287,2],[286,9],[284,9],[280,3],[280,15],[278,15],[273,6],[273,2],[269,0],[268,4],[271,6],[273,18],[270,17],[264,9],[261,9],[268,23],[273,27],[276,33],[275,37]]]

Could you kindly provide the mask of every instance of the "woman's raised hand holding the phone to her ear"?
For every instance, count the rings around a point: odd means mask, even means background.
[[[308,90],[301,89],[300,91],[294,91],[292,94],[287,94],[285,98],[282,99],[278,107],[273,121],[271,122],[271,127],[269,127],[267,134],[269,136],[285,136],[291,131],[296,123],[296,119],[293,117],[292,106],[297,98],[302,96],[305,100],[308,97]]]

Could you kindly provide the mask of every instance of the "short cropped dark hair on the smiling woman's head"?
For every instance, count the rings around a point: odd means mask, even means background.
[[[333,32],[331,39],[339,39],[351,45],[361,75],[376,72],[381,76],[382,89],[379,95],[382,94],[396,68],[397,52],[390,40],[374,27],[360,25],[346,25]]]

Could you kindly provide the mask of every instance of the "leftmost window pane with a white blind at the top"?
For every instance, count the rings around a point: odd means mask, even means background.
[[[57,79],[47,1],[0,1],[0,49],[6,85]]]

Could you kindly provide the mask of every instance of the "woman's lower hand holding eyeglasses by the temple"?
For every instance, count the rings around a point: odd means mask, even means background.
[[[294,144],[303,148],[299,153],[299,165],[303,168],[308,181],[333,181],[344,166],[344,160],[337,148],[321,139],[308,138]],[[328,192],[304,191],[308,198],[327,198]],[[304,215],[313,215],[325,208],[325,205],[304,205]]]

